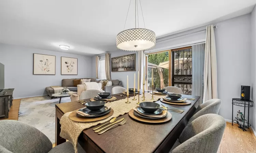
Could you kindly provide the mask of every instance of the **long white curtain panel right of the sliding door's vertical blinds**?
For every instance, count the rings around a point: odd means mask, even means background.
[[[218,98],[217,57],[213,25],[207,26],[206,28],[203,76],[203,102]]]

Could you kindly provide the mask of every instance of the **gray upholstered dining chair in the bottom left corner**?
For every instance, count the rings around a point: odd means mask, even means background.
[[[15,120],[0,121],[1,153],[74,153],[70,141],[53,148],[51,141],[38,129]],[[79,153],[85,153],[77,145]]]

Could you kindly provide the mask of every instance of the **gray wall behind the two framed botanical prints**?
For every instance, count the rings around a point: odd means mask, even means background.
[[[33,75],[33,53],[55,55],[55,75]],[[78,75],[61,75],[61,56],[78,58]],[[62,79],[91,77],[91,57],[0,44],[0,63],[5,65],[5,88],[15,88],[14,98],[45,95],[45,87],[60,86]]]

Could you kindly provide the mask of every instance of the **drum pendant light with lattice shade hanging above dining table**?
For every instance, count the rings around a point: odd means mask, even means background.
[[[139,0],[140,1],[140,0]],[[130,0],[131,4],[131,0]],[[130,8],[129,4],[129,8]],[[141,7],[141,2],[140,2]],[[129,12],[128,8],[128,12]],[[138,18],[138,28],[136,25],[136,10],[137,10],[137,18]],[[128,16],[127,12],[127,16]],[[142,7],[141,7],[142,12]],[[126,20],[127,20],[126,16]],[[142,12],[143,17],[143,12]],[[125,24],[126,24],[125,20]],[[124,51],[142,51],[146,49],[150,49],[156,45],[156,34],[146,29],[144,17],[143,17],[144,28],[139,28],[139,16],[138,16],[138,1],[135,0],[135,28],[127,29],[117,34],[116,36],[116,47],[120,50]],[[124,27],[125,29],[125,27]]]

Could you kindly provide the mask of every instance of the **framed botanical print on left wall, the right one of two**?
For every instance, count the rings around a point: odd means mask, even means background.
[[[77,75],[77,58],[61,57],[61,75]]]

